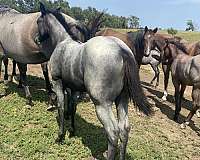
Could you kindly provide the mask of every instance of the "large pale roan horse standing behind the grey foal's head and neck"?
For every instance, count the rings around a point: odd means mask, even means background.
[[[61,8],[58,8],[58,10],[60,9]],[[5,65],[4,81],[8,80],[8,57],[11,57],[14,59],[12,77],[16,76],[17,63],[20,72],[19,87],[21,88],[23,86],[25,88],[27,104],[32,106],[33,103],[31,99],[31,94],[29,92],[29,88],[26,82],[26,64],[37,64],[42,62],[41,67],[46,81],[46,88],[48,91],[48,95],[50,95],[52,90],[49,81],[47,66],[47,60],[49,59],[49,56],[47,55],[47,57],[45,57],[42,52],[51,53],[53,51],[51,42],[48,41],[48,37],[44,37],[44,40],[38,39],[36,19],[40,16],[39,12],[21,14],[20,12],[9,8],[8,6],[2,5],[0,6],[0,14],[0,30],[4,33],[0,36],[0,50],[1,52],[4,52],[1,59],[1,61],[3,60]],[[84,41],[83,37],[86,37],[86,34],[94,33],[96,32],[96,30],[99,29],[99,26],[103,22],[101,20],[103,14],[104,13],[102,12],[97,17],[94,17],[94,19],[88,22],[88,26],[80,24],[78,21],[68,15],[63,15],[70,22],[71,31],[76,34],[80,41]],[[23,18],[23,21],[21,21],[20,18]],[[31,22],[31,20],[33,21]],[[11,33],[14,35],[14,37],[10,35]],[[15,40],[16,42],[14,42]],[[8,43],[8,41],[10,41],[11,43]],[[51,102],[49,103],[51,104]],[[50,105],[48,109],[51,108],[52,106]]]

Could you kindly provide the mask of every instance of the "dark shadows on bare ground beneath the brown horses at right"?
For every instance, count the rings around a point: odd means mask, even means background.
[[[150,93],[152,93],[153,95],[155,95],[156,97],[158,97],[159,99],[162,98],[162,92],[153,89],[152,86],[146,82],[142,82],[142,86],[147,89]],[[173,120],[174,118],[174,109],[172,109],[171,106],[168,106],[167,104],[162,103],[162,100],[158,100],[155,96],[151,96],[150,98],[153,99],[153,101],[155,102],[156,107],[160,108],[160,111],[165,114],[169,119]],[[174,96],[172,95],[168,95],[167,98],[168,102],[173,103],[174,104]],[[192,109],[192,102],[189,100],[182,100],[182,107],[186,108],[187,110],[191,110]],[[184,120],[186,119],[185,116],[179,114],[179,122],[178,123],[183,123]],[[194,122],[191,120],[190,125],[192,130],[194,130],[197,134],[200,134],[200,129],[197,128],[194,125]]]

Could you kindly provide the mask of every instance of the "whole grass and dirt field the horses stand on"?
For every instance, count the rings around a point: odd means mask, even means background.
[[[200,33],[179,32],[178,35],[189,41],[200,40]],[[181,130],[180,124],[172,120],[174,90],[171,81],[168,101],[163,102],[163,74],[159,87],[155,89],[149,85],[152,73],[149,66],[142,66],[141,82],[145,94],[159,110],[155,116],[147,118],[138,116],[133,105],[129,105],[131,131],[127,159],[200,160],[200,120],[194,116],[190,126]],[[103,160],[106,136],[97,120],[94,105],[91,102],[78,105],[75,137],[69,138],[67,132],[64,144],[58,145],[55,143],[56,112],[46,111],[47,95],[40,66],[30,65],[28,74],[35,104],[31,109],[26,107],[24,92],[16,83],[0,84],[0,93],[5,93],[0,98],[0,160]],[[191,109],[190,94],[191,88],[187,88],[179,123]]]

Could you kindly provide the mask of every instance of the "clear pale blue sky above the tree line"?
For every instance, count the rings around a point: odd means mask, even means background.
[[[71,7],[95,7],[118,16],[134,15],[141,26],[185,30],[187,20],[200,28],[200,0],[68,0]]]

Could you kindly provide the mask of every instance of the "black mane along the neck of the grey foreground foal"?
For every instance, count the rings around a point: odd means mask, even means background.
[[[55,18],[60,22],[60,24],[65,28],[66,32],[70,35],[70,37],[75,40],[79,41],[79,38],[71,31],[70,25],[66,22],[62,13],[58,10],[48,10],[49,13],[53,14]],[[77,28],[79,29],[79,28]],[[80,29],[79,29],[80,31]]]

